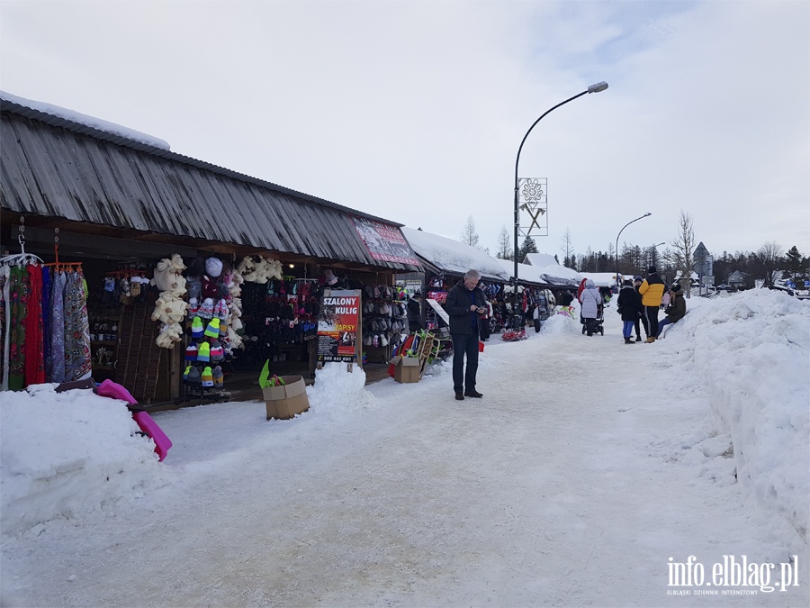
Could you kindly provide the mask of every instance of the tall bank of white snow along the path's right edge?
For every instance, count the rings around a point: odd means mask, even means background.
[[[689,361],[691,382],[708,388],[723,434],[705,448],[733,450],[743,495],[807,540],[810,302],[754,289],[687,305],[687,316],[665,334],[677,350],[664,365]],[[682,390],[689,394],[689,386]]]

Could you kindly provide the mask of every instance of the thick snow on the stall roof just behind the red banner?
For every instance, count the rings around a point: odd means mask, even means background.
[[[498,259],[492,258],[482,250],[458,240],[414,230],[407,226],[403,226],[401,230],[417,255],[427,259],[437,268],[459,275],[464,275],[467,270],[475,268],[482,277],[509,281],[509,272],[500,267]]]

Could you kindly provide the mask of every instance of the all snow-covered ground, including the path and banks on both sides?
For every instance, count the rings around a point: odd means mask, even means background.
[[[810,303],[688,307],[493,336],[482,400],[334,365],[294,420],[154,413],[163,463],[120,402],[3,394],[2,604],[806,606]]]

